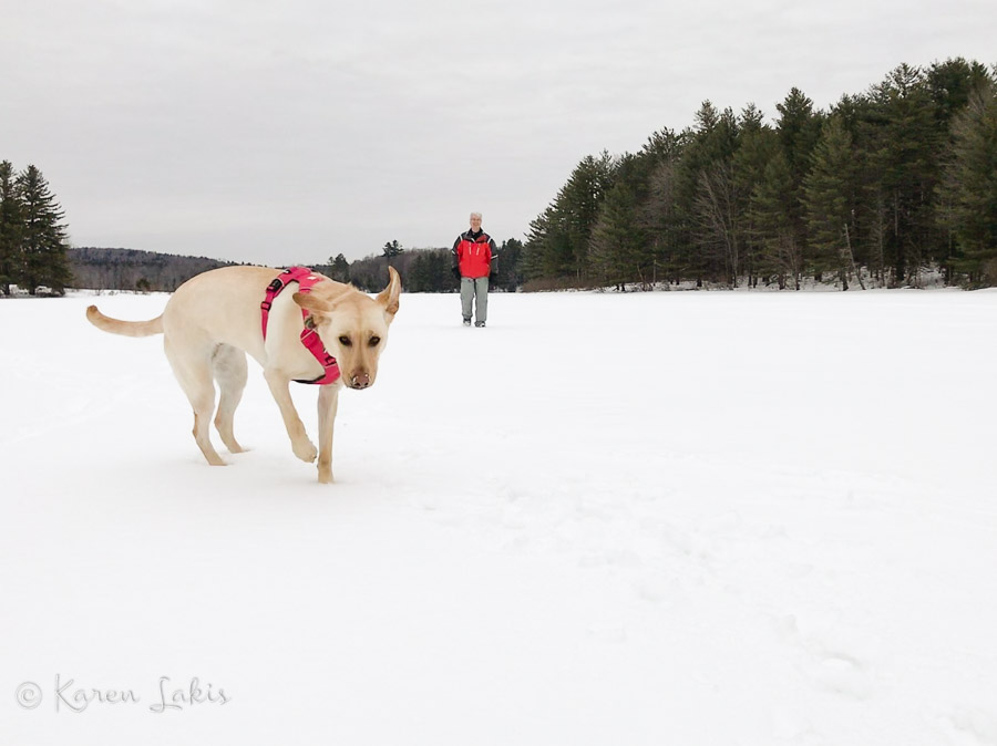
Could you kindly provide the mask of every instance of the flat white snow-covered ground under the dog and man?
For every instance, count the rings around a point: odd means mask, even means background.
[[[997,292],[403,296],[330,486],[94,300],[0,302],[0,743],[997,744]]]

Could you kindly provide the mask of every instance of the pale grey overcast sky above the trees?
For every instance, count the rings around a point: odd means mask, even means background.
[[[471,210],[501,242],[706,99],[771,120],[995,40],[994,0],[0,0],[0,159],[74,246],[316,263]]]

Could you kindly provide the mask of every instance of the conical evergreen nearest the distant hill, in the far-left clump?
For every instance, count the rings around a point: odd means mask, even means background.
[[[66,234],[62,220],[65,217],[42,173],[28,166],[18,177],[17,188],[23,210],[21,265],[18,283],[34,292],[47,284],[56,292],[64,292],[72,281],[66,258]]]

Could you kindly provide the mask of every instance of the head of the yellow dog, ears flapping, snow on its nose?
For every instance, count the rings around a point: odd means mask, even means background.
[[[350,388],[368,388],[378,376],[378,359],[388,344],[388,327],[401,294],[398,272],[389,267],[388,273],[388,287],[377,298],[333,282],[295,293],[295,302],[311,313],[322,344],[336,358]]]

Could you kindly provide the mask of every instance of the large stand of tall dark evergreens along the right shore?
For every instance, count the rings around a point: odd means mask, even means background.
[[[639,153],[584,158],[531,222],[527,289],[705,281],[997,284],[997,68],[903,64],[774,125],[709,101]]]

